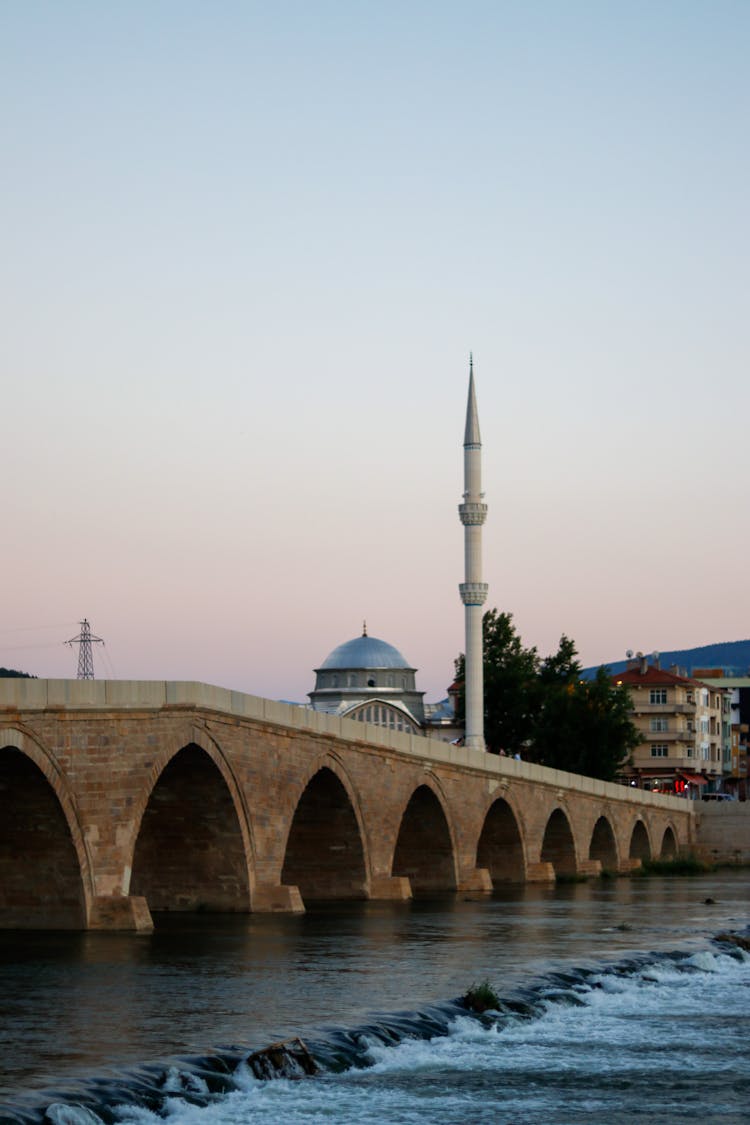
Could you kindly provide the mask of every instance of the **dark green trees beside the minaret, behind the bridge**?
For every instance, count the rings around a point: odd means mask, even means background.
[[[497,610],[484,618],[484,654],[490,752],[521,754],[602,781],[616,777],[640,739],[630,718],[630,693],[612,683],[606,668],[581,680],[576,645],[564,634],[558,651],[540,660],[535,648],[524,648],[513,615]],[[455,674],[462,683],[463,656]]]

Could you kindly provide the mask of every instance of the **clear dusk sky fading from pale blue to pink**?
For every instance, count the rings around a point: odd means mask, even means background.
[[[0,665],[750,636],[746,0],[0,0]]]

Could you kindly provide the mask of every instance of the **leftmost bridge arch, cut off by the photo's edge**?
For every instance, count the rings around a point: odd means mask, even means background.
[[[84,929],[92,864],[57,762],[19,728],[0,730],[0,927]]]

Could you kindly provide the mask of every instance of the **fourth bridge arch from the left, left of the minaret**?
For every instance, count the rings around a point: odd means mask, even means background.
[[[426,774],[400,816],[391,875],[406,875],[413,894],[458,886],[454,832],[446,808],[437,780]]]

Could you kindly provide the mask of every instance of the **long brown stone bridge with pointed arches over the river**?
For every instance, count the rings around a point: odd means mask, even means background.
[[[0,926],[624,873],[692,802],[198,683],[0,680]]]

